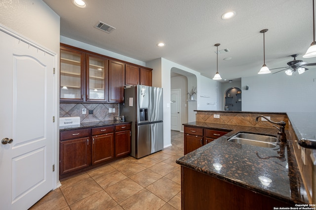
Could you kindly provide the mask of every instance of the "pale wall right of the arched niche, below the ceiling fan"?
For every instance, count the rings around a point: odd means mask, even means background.
[[[308,61],[308,60],[307,60]],[[316,69],[287,76],[283,72],[241,79],[242,111],[316,112]],[[245,86],[249,90],[245,90]]]

